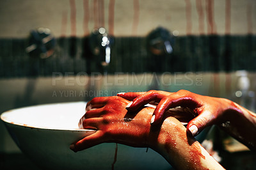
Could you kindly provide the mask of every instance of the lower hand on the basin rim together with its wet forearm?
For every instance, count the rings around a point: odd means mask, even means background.
[[[81,151],[100,143],[115,142],[152,148],[176,169],[223,169],[194,137],[186,133],[184,125],[171,116],[172,111],[152,126],[154,108],[142,106],[131,112],[126,109],[128,104],[129,100],[121,97],[93,98],[86,105],[86,114],[79,125],[97,132],[72,144],[70,149]]]

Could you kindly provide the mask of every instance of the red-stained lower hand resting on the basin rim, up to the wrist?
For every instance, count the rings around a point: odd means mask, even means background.
[[[107,142],[147,147],[154,109],[146,107],[137,114],[131,114],[125,109],[127,104],[129,101],[121,97],[93,98],[86,105],[87,112],[79,124],[80,127],[97,131],[71,145],[70,149],[80,151]]]

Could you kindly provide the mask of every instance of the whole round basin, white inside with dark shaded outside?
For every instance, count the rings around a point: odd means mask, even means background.
[[[43,169],[111,169],[115,143],[104,143],[74,153],[70,144],[94,133],[81,130],[78,121],[85,102],[37,105],[1,114],[13,140]],[[170,169],[170,164],[150,148],[117,145],[114,169]]]

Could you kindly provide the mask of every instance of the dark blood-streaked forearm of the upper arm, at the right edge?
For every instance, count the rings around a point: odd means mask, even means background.
[[[256,114],[231,102],[220,127],[232,137],[256,151]]]

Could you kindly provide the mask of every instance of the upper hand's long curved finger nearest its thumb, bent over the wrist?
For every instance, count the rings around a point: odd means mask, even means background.
[[[189,107],[195,108],[196,102],[193,97],[190,97],[186,93],[173,93],[168,97],[164,97],[156,107],[156,110],[153,113],[153,120],[151,121],[152,125],[157,125],[163,119],[164,112],[168,111],[168,109],[174,107]]]

